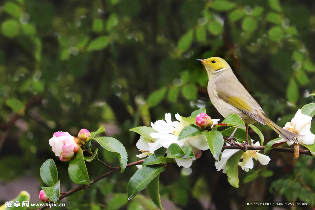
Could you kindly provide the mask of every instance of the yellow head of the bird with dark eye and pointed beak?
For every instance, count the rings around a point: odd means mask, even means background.
[[[231,70],[230,65],[224,59],[219,57],[211,57],[204,60],[198,60],[201,61],[206,68],[209,78],[212,78],[215,74],[218,74],[219,72],[222,72],[224,70]]]

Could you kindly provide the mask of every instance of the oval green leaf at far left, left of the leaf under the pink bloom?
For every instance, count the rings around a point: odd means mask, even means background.
[[[43,179],[43,182],[49,187],[54,186],[54,184],[56,184],[58,181],[57,167],[53,159],[46,160],[42,167],[40,167],[39,173],[40,177]]]

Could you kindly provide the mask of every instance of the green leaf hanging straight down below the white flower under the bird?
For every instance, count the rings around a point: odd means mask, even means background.
[[[226,161],[227,180],[236,188],[238,188],[238,162],[240,161],[243,152],[243,150],[236,152]]]

